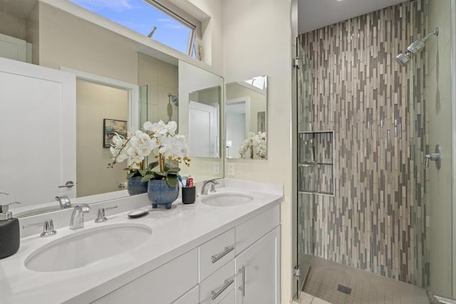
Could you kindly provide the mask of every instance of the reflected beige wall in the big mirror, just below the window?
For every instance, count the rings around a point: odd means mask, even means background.
[[[48,4],[38,4],[39,65],[53,69],[66,66],[138,83],[138,51],[133,40]]]

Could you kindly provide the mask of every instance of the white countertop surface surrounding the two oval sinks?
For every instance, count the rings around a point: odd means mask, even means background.
[[[58,228],[52,237],[32,235],[22,238],[19,251],[0,260],[0,303],[90,303],[279,204],[284,198],[282,187],[271,184],[225,179],[222,186],[217,193],[247,193],[254,200],[240,206],[214,207],[201,203],[201,197],[192,205],[183,205],[178,199],[170,210],[159,206],[150,209],[150,213],[142,218],[128,218],[126,212],[107,214],[105,223],[86,221],[85,227],[78,230],[70,230],[68,226]],[[118,223],[147,225],[152,228],[152,235],[133,250],[83,268],[37,272],[24,265],[34,250],[58,238]]]

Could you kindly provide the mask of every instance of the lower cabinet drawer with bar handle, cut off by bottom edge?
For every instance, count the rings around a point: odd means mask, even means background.
[[[199,284],[199,304],[221,303],[232,290],[234,290],[234,260],[230,260]]]

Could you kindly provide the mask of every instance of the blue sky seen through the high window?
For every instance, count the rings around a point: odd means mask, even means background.
[[[95,14],[187,54],[192,29],[143,0],[70,0]]]

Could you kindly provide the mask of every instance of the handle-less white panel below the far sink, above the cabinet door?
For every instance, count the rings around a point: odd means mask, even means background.
[[[236,255],[242,253],[249,245],[259,240],[263,235],[279,226],[280,206],[276,205],[254,218],[236,226]]]

